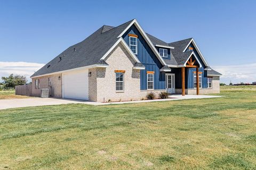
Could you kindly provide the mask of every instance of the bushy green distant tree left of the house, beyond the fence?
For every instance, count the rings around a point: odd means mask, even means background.
[[[26,84],[28,81],[23,75],[13,75],[9,77],[2,77],[4,87],[15,87],[18,85]]]

